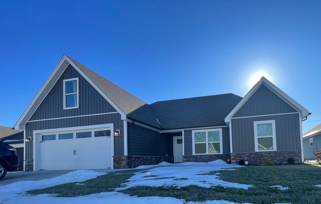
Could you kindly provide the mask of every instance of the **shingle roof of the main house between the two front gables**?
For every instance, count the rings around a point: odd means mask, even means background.
[[[129,119],[160,130],[224,126],[225,117],[242,99],[234,94],[222,94],[147,104],[76,60],[70,60]]]

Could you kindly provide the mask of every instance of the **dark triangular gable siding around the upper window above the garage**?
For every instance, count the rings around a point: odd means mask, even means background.
[[[64,79],[78,78],[79,108],[64,110]],[[117,112],[81,74],[69,65],[29,121]]]

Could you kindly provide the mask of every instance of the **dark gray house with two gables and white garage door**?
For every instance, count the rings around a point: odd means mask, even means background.
[[[229,158],[284,163],[303,161],[301,121],[309,114],[264,77],[244,98],[147,104],[64,55],[14,128],[27,138],[26,171]]]

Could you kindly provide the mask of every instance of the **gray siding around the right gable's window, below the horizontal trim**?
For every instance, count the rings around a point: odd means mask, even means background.
[[[277,150],[301,150],[299,114],[232,119],[233,152],[254,152],[254,121],[275,120]]]

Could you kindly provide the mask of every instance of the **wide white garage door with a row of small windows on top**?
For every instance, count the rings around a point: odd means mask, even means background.
[[[40,170],[111,168],[111,131],[107,128],[40,134]]]

